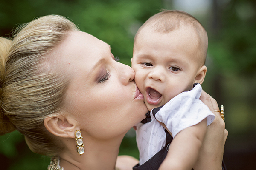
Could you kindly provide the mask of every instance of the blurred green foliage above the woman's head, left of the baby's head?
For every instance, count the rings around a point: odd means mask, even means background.
[[[109,43],[113,54],[130,64],[134,34],[161,8],[160,0],[1,0],[0,35],[8,36],[14,26],[35,17],[60,14],[73,20],[81,31]]]

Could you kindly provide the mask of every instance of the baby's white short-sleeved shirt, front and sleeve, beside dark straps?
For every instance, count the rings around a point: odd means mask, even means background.
[[[191,91],[183,92],[167,102],[157,111],[155,117],[152,113],[153,109],[150,113],[150,122],[137,124],[136,140],[140,151],[140,165],[166,145],[165,131],[158,121],[166,125],[172,136],[187,127],[198,124],[205,118],[207,118],[207,125],[212,123],[215,116],[199,100],[201,91],[201,85],[196,85]]]

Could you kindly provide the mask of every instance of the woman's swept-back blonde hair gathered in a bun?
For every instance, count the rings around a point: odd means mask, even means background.
[[[0,135],[17,129],[33,152],[55,155],[62,148],[44,119],[64,109],[68,78],[44,61],[70,31],[79,29],[65,17],[49,15],[18,30],[12,40],[0,38]]]

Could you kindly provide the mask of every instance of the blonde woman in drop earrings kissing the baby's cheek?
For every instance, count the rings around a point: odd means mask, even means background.
[[[1,134],[17,129],[33,152],[58,156],[49,169],[131,170],[131,157],[116,163],[119,146],[147,109],[134,71],[115,61],[108,44],[55,15],[1,44]],[[218,108],[207,94],[202,101]],[[198,169],[221,166],[227,131],[220,119],[209,127]]]

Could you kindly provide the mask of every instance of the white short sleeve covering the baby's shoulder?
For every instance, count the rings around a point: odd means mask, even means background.
[[[207,118],[207,125],[210,125],[215,115],[207,105],[199,99],[202,87],[196,85],[191,91],[185,91],[163,106],[155,115],[155,118],[164,123],[175,138],[181,130],[196,125]]]

